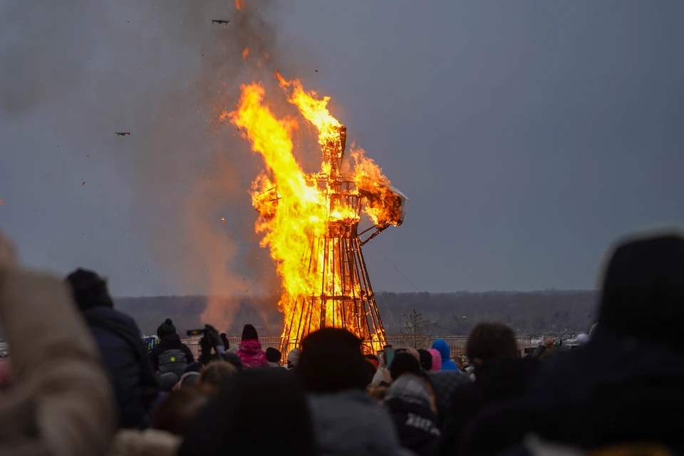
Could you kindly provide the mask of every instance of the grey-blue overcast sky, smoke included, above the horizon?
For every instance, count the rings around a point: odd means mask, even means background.
[[[231,2],[53,3],[0,6],[0,227],[28,265],[97,269],[117,295],[264,269],[272,290],[259,162],[211,99],[275,68],[331,95],[410,197],[373,243],[421,291],[591,288],[616,237],[684,224],[683,1],[247,0],[272,24],[263,71],[209,23]],[[374,288],[415,290],[378,249]]]

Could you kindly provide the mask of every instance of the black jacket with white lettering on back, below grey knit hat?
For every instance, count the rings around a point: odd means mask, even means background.
[[[418,456],[437,456],[440,429],[437,415],[425,405],[408,403],[400,398],[385,401],[399,434],[401,445]]]

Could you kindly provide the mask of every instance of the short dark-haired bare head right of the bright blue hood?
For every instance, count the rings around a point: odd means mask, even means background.
[[[465,351],[476,365],[494,358],[517,358],[515,335],[502,323],[480,323],[470,331]]]

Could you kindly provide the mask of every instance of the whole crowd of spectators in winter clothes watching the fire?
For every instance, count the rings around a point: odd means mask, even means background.
[[[198,358],[155,338],[107,281],[22,269],[0,234],[1,455],[677,455],[684,452],[684,237],[618,244],[579,349],[521,356],[479,323],[470,366],[445,341],[392,359],[323,328],[282,356],[252,325],[207,324]],[[551,356],[552,355],[552,356]]]

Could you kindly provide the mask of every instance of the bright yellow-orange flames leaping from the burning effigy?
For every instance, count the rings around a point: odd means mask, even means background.
[[[288,92],[289,102],[318,129],[318,142],[323,147],[334,142],[343,125],[327,108],[330,98],[318,99],[316,93],[307,93],[299,81],[285,81],[278,73],[276,76]],[[322,317],[326,326],[340,326],[344,321],[348,329],[366,337],[371,346],[378,345],[380,336],[361,333],[358,327],[359,319],[366,316],[355,314],[358,309],[354,300],[368,299],[364,296],[366,291],[361,289],[358,279],[349,279],[349,272],[343,278],[342,269],[353,265],[342,264],[340,254],[334,253],[348,247],[343,236],[331,233],[356,228],[359,212],[358,205],[353,207],[333,198],[338,191],[334,180],[318,178],[329,177],[331,165],[323,162],[318,175],[304,174],[293,155],[291,140],[298,124],[294,119],[278,119],[271,113],[259,83],[243,85],[237,109],[222,115],[223,118],[229,118],[239,128],[266,164],[266,170],[252,182],[252,204],[261,215],[255,225],[257,232],[263,234],[261,247],[270,249],[281,277],[279,307],[286,321],[284,339],[315,331]],[[392,223],[392,204],[381,201],[391,197],[385,195],[391,193],[386,187],[389,181],[373,160],[363,157],[363,151],[355,151],[353,156],[355,173],[348,178],[356,189],[351,190],[351,195],[368,200],[366,213],[375,224]],[[341,294],[352,298],[348,306],[333,303],[332,296]],[[325,309],[323,316],[321,309]]]

